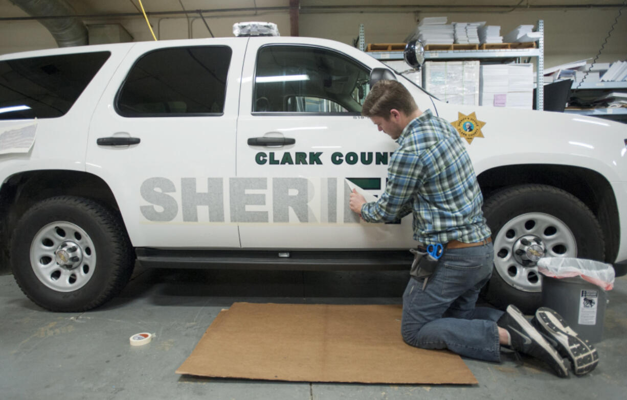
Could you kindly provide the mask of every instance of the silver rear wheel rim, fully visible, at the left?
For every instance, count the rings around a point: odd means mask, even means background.
[[[57,292],[85,286],[96,266],[96,252],[87,232],[71,222],[41,228],[31,243],[31,266],[41,283]]]

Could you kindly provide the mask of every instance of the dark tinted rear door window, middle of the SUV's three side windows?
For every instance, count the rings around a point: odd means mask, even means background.
[[[221,115],[231,49],[169,48],[145,54],[120,89],[122,116]]]

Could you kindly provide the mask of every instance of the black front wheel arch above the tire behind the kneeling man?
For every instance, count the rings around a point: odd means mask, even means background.
[[[609,181],[600,173],[572,165],[519,164],[490,168],[477,176],[483,197],[513,185],[540,183],[560,188],[583,202],[598,219],[605,240],[605,262],[618,254],[618,205]]]

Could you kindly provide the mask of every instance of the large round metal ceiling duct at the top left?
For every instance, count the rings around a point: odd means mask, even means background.
[[[65,0],[11,0],[11,2],[35,18],[66,16],[66,18],[38,19],[50,31],[59,47],[88,44],[85,24],[80,19],[72,17],[76,13]]]

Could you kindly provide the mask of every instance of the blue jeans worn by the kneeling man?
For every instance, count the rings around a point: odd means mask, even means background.
[[[422,349],[449,349],[461,356],[500,361],[496,321],[501,310],[475,307],[492,275],[492,243],[446,250],[423,290],[410,278],[403,294],[403,340]]]

